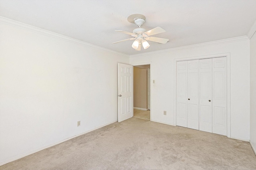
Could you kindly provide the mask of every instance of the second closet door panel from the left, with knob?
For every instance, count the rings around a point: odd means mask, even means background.
[[[199,129],[199,60],[188,61],[187,127]]]

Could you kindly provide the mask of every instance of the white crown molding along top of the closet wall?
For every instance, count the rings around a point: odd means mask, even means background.
[[[175,47],[175,48],[171,48],[171,49],[165,49],[165,50],[159,50],[159,51],[152,51],[152,52],[148,52],[148,53],[130,55],[130,57],[150,55],[150,54],[155,54],[155,53],[163,53],[163,52],[168,52],[168,51],[178,51],[178,50],[184,50],[184,49],[206,47],[206,46],[209,46],[209,45],[218,45],[218,44],[232,43],[232,42],[244,41],[244,40],[249,40],[246,35],[245,36],[241,36],[241,37],[234,37],[234,38],[222,39],[222,40],[217,40],[217,41],[210,41],[210,42],[207,42],[207,43],[187,45],[187,46]]]

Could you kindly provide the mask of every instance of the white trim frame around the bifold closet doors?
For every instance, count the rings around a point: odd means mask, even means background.
[[[176,98],[177,98],[177,94],[176,94],[176,76],[177,76],[177,61],[188,61],[188,60],[196,60],[196,59],[210,59],[210,58],[216,58],[216,57],[226,57],[226,81],[227,81],[227,137],[230,138],[230,124],[231,124],[231,120],[230,120],[230,53],[222,53],[222,54],[215,54],[215,55],[203,55],[203,56],[195,56],[195,57],[186,57],[186,58],[179,58],[179,59],[174,59],[174,126],[177,125],[177,113],[176,113]],[[151,119],[151,117],[150,117]]]

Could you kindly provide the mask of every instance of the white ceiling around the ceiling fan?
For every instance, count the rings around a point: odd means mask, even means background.
[[[135,51],[131,36],[137,28],[131,14],[146,16],[146,30],[162,27],[146,50]],[[182,47],[247,35],[256,21],[256,0],[0,0],[0,16],[53,31],[126,55]]]

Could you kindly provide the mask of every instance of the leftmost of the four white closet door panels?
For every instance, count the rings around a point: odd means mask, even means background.
[[[187,64],[188,61],[177,62],[177,125],[187,127]]]

